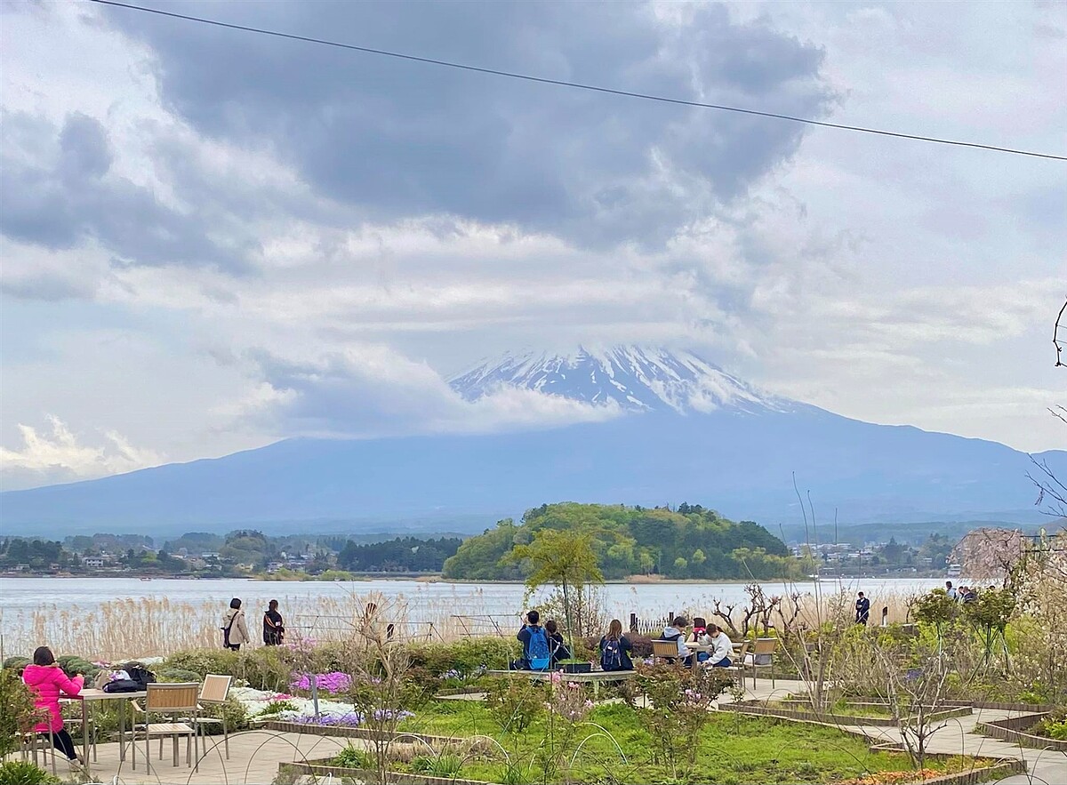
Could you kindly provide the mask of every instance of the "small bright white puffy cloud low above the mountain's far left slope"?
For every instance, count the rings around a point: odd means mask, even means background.
[[[95,434],[94,444],[75,435],[60,418],[48,416],[50,431],[19,423],[22,445],[0,447],[4,490],[87,480],[163,463],[153,450],[134,447],[121,433]]]

